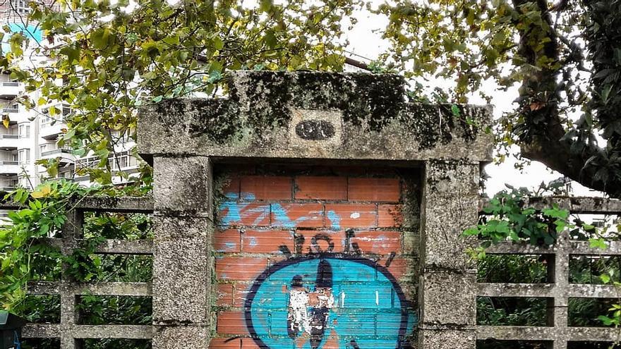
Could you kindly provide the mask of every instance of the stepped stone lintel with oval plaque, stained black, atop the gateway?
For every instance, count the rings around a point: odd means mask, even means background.
[[[138,151],[209,157],[490,161],[487,106],[405,102],[397,75],[232,73],[227,99],[139,115]]]

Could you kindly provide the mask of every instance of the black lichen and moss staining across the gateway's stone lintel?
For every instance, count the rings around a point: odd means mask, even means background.
[[[419,150],[448,145],[455,137],[473,142],[480,133],[478,125],[488,123],[486,111],[476,108],[459,106],[461,115],[454,116],[450,104],[406,102],[399,75],[236,71],[228,84],[229,98],[162,102],[155,106],[155,120],[164,125],[168,137],[181,130],[186,137],[212,145],[267,149],[283,144],[279,135],[291,123],[292,110],[339,110],[344,130],[368,140],[366,147],[373,145],[368,150],[374,152],[390,152],[380,149],[387,144],[374,140],[391,135],[411,137]],[[330,137],[329,125],[299,128],[303,129],[296,133],[303,139]],[[352,147],[354,142],[343,139],[342,146]]]

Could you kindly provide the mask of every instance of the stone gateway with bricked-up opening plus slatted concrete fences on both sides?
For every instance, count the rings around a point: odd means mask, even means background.
[[[94,214],[152,214],[153,239],[108,236],[94,251],[146,257],[152,280],[32,281],[32,297],[58,300],[49,303],[58,319],[28,324],[23,336],[58,343],[46,349],[88,348],[100,338],[154,349],[475,349],[519,341],[583,349],[619,341],[621,329],[589,327],[597,324],[572,314],[584,300],[618,302],[617,286],[576,278],[575,266],[619,261],[621,241],[601,250],[563,232],[550,247],[502,242],[488,257],[537,259],[542,272],[478,278],[464,254],[478,242],[460,234],[481,207],[490,109],[465,106],[456,115],[403,96],[393,75],[238,72],[226,99],[144,111],[139,149],[154,166],[153,197],[81,197],[61,234],[44,240],[71,255],[88,241]],[[593,197],[525,204],[621,214],[619,200]],[[114,315],[86,322],[88,295],[148,300],[143,313],[152,322],[119,324]],[[492,298],[536,298],[545,315],[531,326],[488,326],[477,305]]]

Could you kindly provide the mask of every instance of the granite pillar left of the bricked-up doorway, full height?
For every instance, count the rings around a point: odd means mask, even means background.
[[[213,230],[207,157],[154,158],[154,349],[207,348]]]

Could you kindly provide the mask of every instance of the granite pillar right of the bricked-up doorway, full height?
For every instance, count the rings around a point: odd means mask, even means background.
[[[419,349],[476,348],[476,266],[461,236],[478,219],[479,164],[426,162],[421,207]]]

